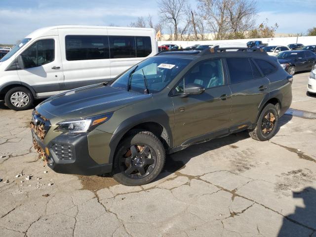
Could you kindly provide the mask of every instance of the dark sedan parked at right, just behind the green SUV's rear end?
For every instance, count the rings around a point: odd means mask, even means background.
[[[277,56],[282,68],[290,75],[296,72],[312,70],[316,64],[316,54],[309,50],[291,50],[280,52]]]

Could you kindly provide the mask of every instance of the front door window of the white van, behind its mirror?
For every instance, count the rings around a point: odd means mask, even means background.
[[[28,47],[21,56],[25,69],[50,63],[55,59],[55,40],[39,40]]]

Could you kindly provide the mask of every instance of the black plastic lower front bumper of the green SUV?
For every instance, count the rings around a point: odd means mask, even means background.
[[[32,136],[43,151],[48,148],[49,155],[45,154],[47,165],[57,173],[97,175],[112,171],[112,163],[98,164],[90,157],[86,133],[61,134],[47,145],[40,140],[33,129]],[[61,149],[69,154],[61,157]]]

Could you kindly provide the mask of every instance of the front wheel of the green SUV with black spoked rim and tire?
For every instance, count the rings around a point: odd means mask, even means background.
[[[165,149],[151,132],[135,130],[118,144],[113,177],[126,186],[148,184],[161,172]]]

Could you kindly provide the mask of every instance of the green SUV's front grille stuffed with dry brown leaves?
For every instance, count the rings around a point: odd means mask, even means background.
[[[36,110],[32,113],[31,129],[34,130],[35,134],[43,140],[51,126],[49,120],[44,116],[40,115]]]

